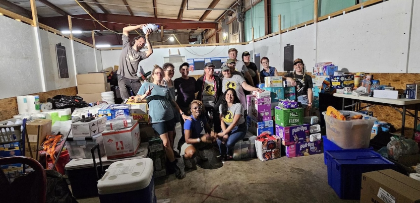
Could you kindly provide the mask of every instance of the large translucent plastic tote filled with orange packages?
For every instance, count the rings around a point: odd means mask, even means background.
[[[371,132],[376,118],[354,111],[340,111],[344,115],[363,115],[369,120],[338,120],[324,114],[327,138],[342,149],[369,148]]]

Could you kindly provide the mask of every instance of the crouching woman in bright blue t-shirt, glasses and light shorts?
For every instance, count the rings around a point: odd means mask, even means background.
[[[203,114],[204,105],[199,100],[191,102],[189,113],[191,113],[191,120],[186,120],[184,124],[184,134],[178,142],[178,150],[181,156],[184,156],[185,166],[192,168],[191,160],[197,155],[201,160],[208,160],[204,156],[204,148],[208,147],[210,143],[216,141],[217,133],[207,123],[206,116]],[[205,131],[205,134],[201,132]]]

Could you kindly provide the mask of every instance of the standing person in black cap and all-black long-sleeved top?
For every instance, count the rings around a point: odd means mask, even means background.
[[[181,108],[181,110],[183,110],[185,113],[190,111],[189,106],[195,99],[195,93],[197,92],[197,80],[188,76],[190,73],[189,67],[190,64],[187,62],[181,64],[179,66],[179,73],[181,73],[181,78],[177,78],[173,81],[176,89],[176,104],[178,104],[179,108]],[[184,137],[184,119],[179,119],[179,121],[181,121],[181,133]]]

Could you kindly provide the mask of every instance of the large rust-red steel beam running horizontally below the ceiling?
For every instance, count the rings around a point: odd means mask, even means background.
[[[76,15],[72,17],[83,18],[83,19],[91,19],[89,15]],[[159,26],[164,26],[165,30],[185,30],[185,29],[215,29],[217,23],[214,22],[198,22],[198,21],[188,21],[188,20],[177,20],[177,19],[166,19],[166,18],[153,18],[153,17],[141,17],[141,16],[127,16],[127,15],[117,15],[117,14],[95,14],[96,19],[100,19],[107,22],[101,22],[105,27],[111,30],[123,30],[124,27],[131,25],[137,25],[140,23],[153,23]],[[39,19],[39,22],[55,28],[57,30],[64,30],[65,28],[68,29],[69,23],[66,17],[58,16],[58,17],[48,17]],[[73,29],[78,30],[98,30],[99,28],[95,28],[96,23],[87,23],[88,21],[82,19],[72,19]],[[94,21],[92,21],[94,22]],[[111,23],[111,22],[118,22]],[[183,23],[183,22],[191,22],[191,23]],[[195,23],[197,22],[197,23]],[[102,28],[102,27],[100,27]],[[103,28],[102,28],[103,29]]]

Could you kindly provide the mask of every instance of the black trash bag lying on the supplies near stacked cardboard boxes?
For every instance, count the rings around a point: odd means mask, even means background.
[[[72,112],[76,108],[88,107],[88,104],[83,101],[83,98],[80,96],[56,95],[52,98],[48,98],[47,102],[52,103],[53,109],[71,108]]]

